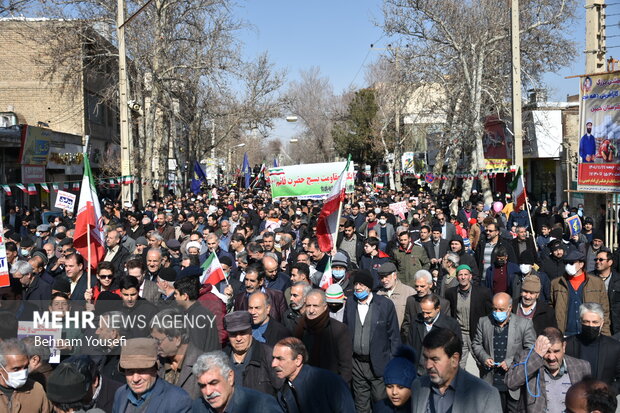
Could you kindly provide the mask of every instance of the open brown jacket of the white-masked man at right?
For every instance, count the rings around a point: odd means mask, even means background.
[[[555,308],[555,318],[558,321],[558,328],[566,331],[568,321],[568,280],[566,277],[558,277],[551,281],[551,305]],[[609,328],[609,298],[605,290],[605,283],[598,277],[586,274],[585,285],[583,287],[583,302],[598,303],[605,312],[602,334],[611,335]]]

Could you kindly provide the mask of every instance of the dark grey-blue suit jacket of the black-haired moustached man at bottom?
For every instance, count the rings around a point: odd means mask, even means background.
[[[497,389],[459,368],[454,378],[452,413],[501,412],[502,402]],[[431,395],[428,376],[418,377],[411,386],[411,411],[425,412]]]

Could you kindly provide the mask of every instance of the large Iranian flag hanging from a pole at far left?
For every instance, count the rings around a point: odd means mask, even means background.
[[[105,258],[104,240],[99,197],[90,170],[88,155],[84,154],[84,177],[82,178],[73,245],[89,261],[92,268],[97,268],[99,262]]]

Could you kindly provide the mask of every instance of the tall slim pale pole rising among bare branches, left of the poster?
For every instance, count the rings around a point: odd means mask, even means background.
[[[512,129],[514,132],[514,164],[523,171],[523,125],[521,123],[521,39],[519,28],[519,0],[511,0],[512,52]],[[523,172],[521,172],[523,173]]]

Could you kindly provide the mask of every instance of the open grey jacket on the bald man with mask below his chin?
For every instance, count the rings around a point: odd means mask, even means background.
[[[493,369],[489,369],[484,365],[485,360],[494,359],[494,361],[506,361],[511,366],[513,359],[523,350],[529,350],[534,346],[536,341],[536,332],[531,320],[519,317],[516,314],[510,315],[508,321],[508,348],[506,349],[506,357],[504,360],[495,360],[493,356],[493,332],[495,324],[491,320],[492,315],[481,318],[478,323],[476,336],[472,342],[472,350],[474,357],[480,367],[480,377],[489,384],[493,384]],[[519,390],[511,390],[510,396],[513,399],[519,399]]]

